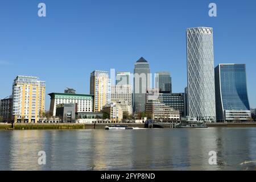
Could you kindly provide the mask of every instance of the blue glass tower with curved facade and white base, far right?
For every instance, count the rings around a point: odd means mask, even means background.
[[[245,64],[219,64],[215,68],[217,121],[250,119]]]

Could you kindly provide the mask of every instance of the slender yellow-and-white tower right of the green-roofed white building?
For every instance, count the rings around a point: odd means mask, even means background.
[[[111,80],[108,72],[93,71],[90,73],[90,94],[94,95],[94,112],[100,112],[103,106],[110,103]]]

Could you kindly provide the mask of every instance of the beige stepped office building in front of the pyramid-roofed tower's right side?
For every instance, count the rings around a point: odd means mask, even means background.
[[[152,119],[179,120],[180,113],[170,106],[162,104],[159,100],[148,100],[146,112],[152,114]]]

